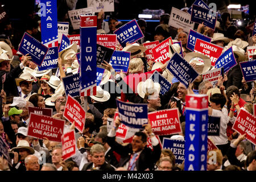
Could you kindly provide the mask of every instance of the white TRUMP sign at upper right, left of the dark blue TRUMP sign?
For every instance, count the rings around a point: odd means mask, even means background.
[[[190,29],[193,30],[195,23],[191,22],[191,15],[172,7],[171,15],[169,19],[170,26],[175,28],[183,28],[185,32],[189,32]]]

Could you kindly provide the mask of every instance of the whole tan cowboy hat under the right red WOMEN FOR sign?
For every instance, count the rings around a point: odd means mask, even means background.
[[[188,61],[189,64],[196,63],[196,72],[201,74],[204,74],[205,72],[209,71],[211,61],[208,56],[203,55],[202,53],[198,52],[189,52],[186,53],[184,59]]]

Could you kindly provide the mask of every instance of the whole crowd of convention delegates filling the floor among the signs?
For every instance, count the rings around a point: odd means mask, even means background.
[[[159,25],[154,32],[147,32],[145,20],[137,20],[144,34],[144,38],[138,40],[138,46],[143,47],[142,43],[154,40],[159,40],[161,43],[171,37],[172,40],[181,42],[182,47],[179,49],[183,50],[184,57],[193,56],[195,52],[187,48],[187,32],[182,28],[169,26],[169,18],[170,14],[160,16]],[[97,26],[98,34],[113,34],[113,31],[122,25],[117,18],[110,18],[109,32],[105,32],[101,27],[103,20],[104,12],[101,11],[98,13],[98,22],[100,22]],[[245,81],[239,63],[248,60],[246,48],[256,45],[256,35],[251,36],[250,32],[240,30],[231,25],[230,21],[230,14],[223,13],[215,30],[204,24],[199,24],[195,30],[212,38],[212,43],[224,47],[224,50],[233,47],[238,64],[226,72],[224,77],[220,76],[216,85],[203,80],[201,75],[214,67],[208,66],[206,62],[209,58],[200,53],[197,53],[196,57],[204,61],[204,69],[188,88],[166,69],[167,63],[159,64],[154,60],[147,60],[145,48],[141,48],[143,51],[139,54],[131,54],[127,74],[115,72],[112,65],[106,62],[102,64],[106,71],[100,86],[97,86],[97,95],[75,97],[82,106],[86,105],[85,126],[82,133],[74,129],[72,123],[63,117],[67,96],[62,79],[78,72],[79,63],[75,57],[60,56],[59,72],[56,71],[57,69],[39,71],[38,66],[31,60],[31,56],[17,52],[8,34],[2,34],[0,39],[0,102],[2,105],[0,136],[9,149],[11,164],[3,155],[0,156],[0,170],[183,171],[184,162],[176,164],[174,153],[169,149],[161,148],[159,142],[163,142],[162,137],[185,140],[185,97],[187,94],[207,94],[208,114],[221,117],[220,135],[209,137],[218,148],[214,150],[217,160],[216,163],[207,163],[207,170],[255,171],[255,145],[246,139],[246,134],[237,133],[232,126],[241,109],[253,114],[256,82]],[[36,30],[36,34],[40,33],[38,27]],[[33,35],[32,32],[28,33]],[[128,46],[131,47],[134,44],[128,43],[123,49],[127,49]],[[68,49],[71,48],[66,48],[64,51]],[[117,46],[117,49],[120,48]],[[195,63],[191,65],[195,69],[198,68]],[[159,84],[154,84],[149,79],[155,70],[172,84],[170,90],[164,95],[159,93]],[[113,88],[114,93],[110,92]],[[177,108],[182,132],[161,136],[159,141],[149,122],[144,125],[144,130],[134,134],[131,143],[120,142],[115,135],[121,119],[116,117],[112,129],[108,130],[107,127],[108,119],[113,119],[118,112],[116,99],[147,104],[148,112]],[[38,139],[28,136],[29,106],[51,108],[52,117],[65,120],[64,133],[75,130],[76,155],[63,160],[61,143],[48,138]],[[151,139],[152,148],[147,146],[148,138]],[[211,157],[209,152],[208,159]]]

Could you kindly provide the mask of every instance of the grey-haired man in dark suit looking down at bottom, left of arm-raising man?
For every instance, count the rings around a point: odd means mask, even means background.
[[[100,171],[114,171],[115,168],[105,162],[105,148],[102,144],[94,144],[90,148],[90,155],[92,156],[92,162],[84,165],[82,171],[87,170],[100,170]]]

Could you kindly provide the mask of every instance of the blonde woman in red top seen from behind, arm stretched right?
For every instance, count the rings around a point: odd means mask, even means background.
[[[162,74],[166,69],[166,66],[167,63],[155,70]],[[123,79],[123,81],[127,84],[127,88],[126,85],[122,86],[121,101],[130,101],[134,103],[141,102],[136,98],[138,96],[137,85],[141,81],[146,81],[147,78],[149,78],[152,73],[155,72],[155,70],[144,73],[144,64],[142,59],[138,57],[131,59],[129,63],[129,75]]]

